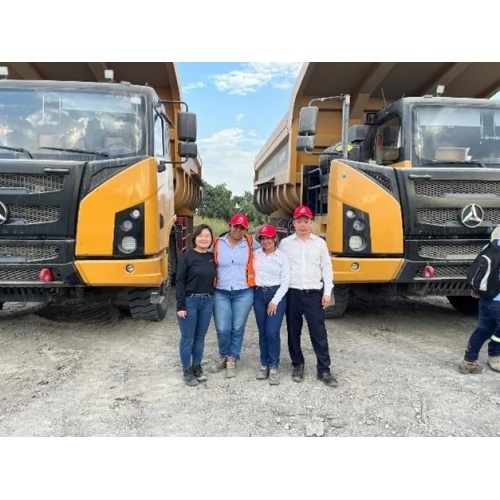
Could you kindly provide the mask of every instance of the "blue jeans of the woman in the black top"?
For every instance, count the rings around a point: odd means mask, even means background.
[[[185,318],[177,316],[181,330],[179,352],[184,370],[191,365],[201,364],[205,348],[205,335],[210,325],[213,310],[214,301],[212,295],[208,293],[186,297],[187,316]]]

